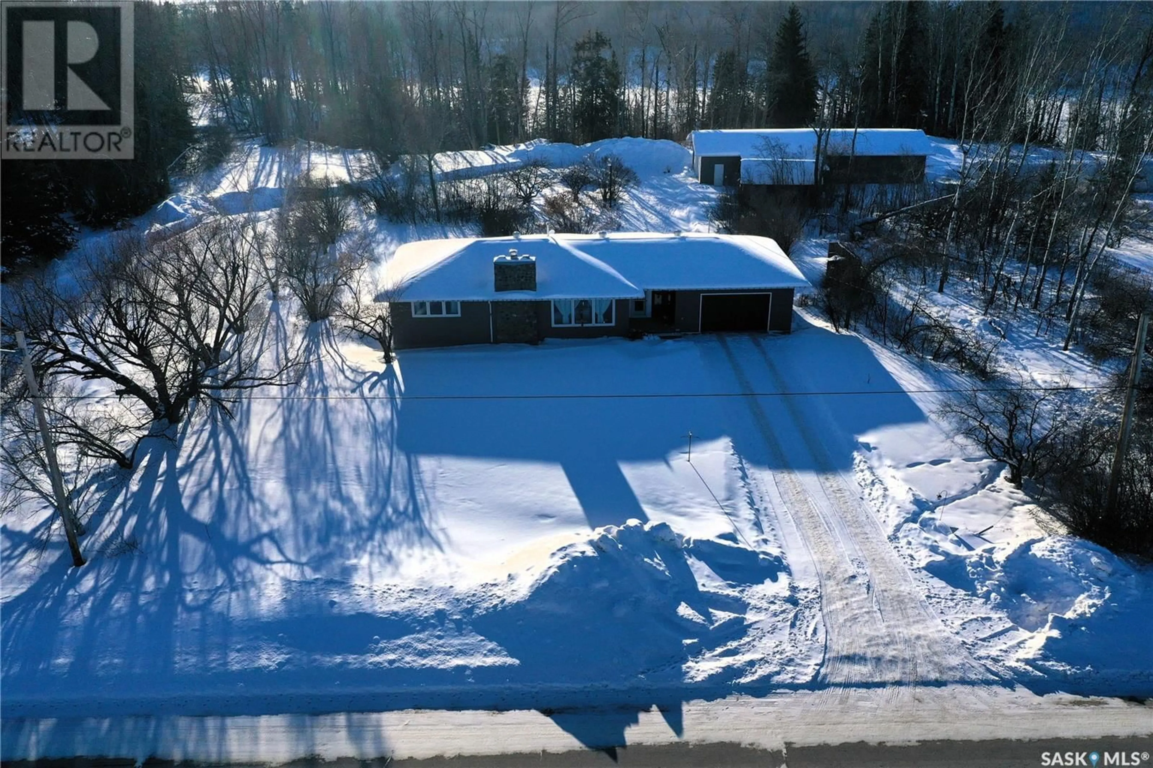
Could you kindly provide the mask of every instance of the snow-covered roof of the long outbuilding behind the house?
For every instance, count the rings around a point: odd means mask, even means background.
[[[856,133],[856,144],[854,144]],[[751,128],[741,130],[694,130],[688,135],[693,153],[700,157],[816,157],[816,133],[811,128]],[[828,153],[858,156],[929,155],[933,145],[924,130],[912,128],[832,128]]]

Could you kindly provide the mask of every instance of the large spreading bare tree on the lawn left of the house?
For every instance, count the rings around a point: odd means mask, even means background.
[[[212,220],[164,241],[119,239],[70,280],[40,277],[12,292],[5,323],[24,331],[48,377],[104,382],[137,404],[129,414],[142,409],[115,421],[131,446],[76,427],[86,450],[131,464],[136,443],[193,404],[229,414],[244,390],[285,382],[292,360],[262,363],[267,285],[250,251],[240,223]]]

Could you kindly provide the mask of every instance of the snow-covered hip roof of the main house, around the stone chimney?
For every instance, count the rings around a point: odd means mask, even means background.
[[[493,288],[492,259],[515,248],[536,259],[536,291]],[[753,235],[615,232],[421,240],[385,268],[401,301],[640,299],[645,291],[808,287],[773,240]]]

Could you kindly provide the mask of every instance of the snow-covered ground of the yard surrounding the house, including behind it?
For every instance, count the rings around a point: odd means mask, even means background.
[[[944,173],[956,153],[937,148]],[[589,149],[460,152],[439,168],[560,166]],[[641,176],[623,228],[708,228],[715,190],[686,150],[591,150]],[[141,224],[271,210],[293,173],[345,180],[359,161],[242,145]],[[363,226],[383,259],[466,234]],[[817,238],[793,251],[811,279],[823,254]],[[914,683],[1153,695],[1148,566],[1047,530],[997,465],[952,441],[929,414],[955,374],[809,310],[783,337],[412,351],[387,368],[287,309],[276,319],[266,333],[310,351],[300,385],[153,441],[89,521],[89,565],[69,569],[59,536],[44,547],[46,512],[5,517],[5,759],[51,753],[12,738],[25,717]],[[1002,353],[1039,377],[1102,375],[1027,329]]]

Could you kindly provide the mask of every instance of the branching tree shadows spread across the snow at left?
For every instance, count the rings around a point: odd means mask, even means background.
[[[317,349],[331,347],[331,336],[314,336]],[[323,386],[337,385],[311,370],[286,393]],[[6,714],[13,702],[25,715],[37,701],[61,716],[91,714],[93,701],[140,707],[141,692],[180,711],[189,698],[262,685],[279,648],[363,652],[405,630],[338,605],[352,569],[371,579],[398,551],[437,547],[387,409],[353,394],[246,398],[234,412],[194,414],[174,437],[142,446],[130,482],[108,494],[82,539],[83,569],[52,539],[43,569],[3,604]],[[352,451],[359,461],[338,460]],[[30,556],[36,533],[0,529],[5,556]]]

